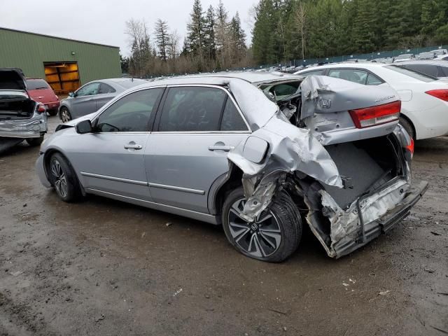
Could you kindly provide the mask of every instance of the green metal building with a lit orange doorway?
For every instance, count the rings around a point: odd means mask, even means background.
[[[44,78],[57,93],[121,76],[119,48],[0,27],[0,67]]]

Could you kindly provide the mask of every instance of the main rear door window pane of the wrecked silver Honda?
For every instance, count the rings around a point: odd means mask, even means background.
[[[226,93],[215,87],[172,87],[160,118],[160,132],[219,130]]]

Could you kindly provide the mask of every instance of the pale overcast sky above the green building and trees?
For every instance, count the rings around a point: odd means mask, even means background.
[[[217,6],[219,0],[202,0],[202,8]],[[239,12],[250,41],[248,11],[257,0],[223,0],[230,18]],[[130,18],[144,19],[151,33],[154,22],[166,20],[177,29],[181,44],[193,8],[193,0],[0,0],[0,27],[39,34],[74,38],[81,41],[116,45],[129,54],[129,40],[124,34]]]

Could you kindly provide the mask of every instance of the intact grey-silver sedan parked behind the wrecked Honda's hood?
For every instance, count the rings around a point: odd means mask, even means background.
[[[59,118],[62,123],[66,123],[90,114],[118,94],[143,83],[146,80],[138,78],[109,78],[89,82],[75,92],[70,92],[69,97],[61,101]]]

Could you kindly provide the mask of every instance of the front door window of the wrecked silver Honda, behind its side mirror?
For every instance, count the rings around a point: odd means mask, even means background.
[[[99,132],[146,132],[151,115],[157,109],[162,88],[127,94],[99,116]]]

